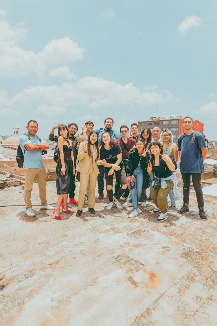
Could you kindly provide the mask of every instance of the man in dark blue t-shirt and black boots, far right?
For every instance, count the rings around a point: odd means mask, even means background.
[[[178,213],[189,212],[189,194],[190,194],[190,178],[197,197],[197,205],[199,208],[200,218],[206,219],[207,215],[204,212],[203,192],[201,188],[201,173],[204,172],[204,160],[207,155],[207,146],[204,136],[197,132],[197,142],[193,139],[193,120],[190,117],[183,119],[183,127],[185,129],[184,136],[178,138],[179,151],[181,151],[180,172],[183,179],[183,207],[178,210]]]

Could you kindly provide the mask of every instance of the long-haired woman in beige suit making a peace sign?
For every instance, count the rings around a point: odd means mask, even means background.
[[[88,140],[79,145],[79,163],[76,170],[80,172],[80,189],[78,195],[78,210],[76,216],[81,216],[84,206],[85,192],[88,188],[88,211],[95,214],[95,188],[97,176],[100,173],[97,165],[100,165],[100,153],[98,146],[98,133],[90,131]]]

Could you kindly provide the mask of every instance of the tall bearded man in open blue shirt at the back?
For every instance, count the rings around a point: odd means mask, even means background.
[[[105,121],[104,121],[104,126],[105,127],[96,129],[96,131],[99,134],[99,137],[98,137],[99,143],[101,141],[103,132],[109,133],[112,136],[114,141],[116,140],[116,138],[121,137],[121,134],[118,131],[112,130],[113,124],[114,124],[114,120],[112,118],[106,118]],[[100,174],[98,174],[98,177],[97,177],[98,192],[99,192],[98,199],[102,199],[103,198],[103,188],[104,188],[104,180],[103,180],[104,166],[100,165],[98,168],[100,170]]]

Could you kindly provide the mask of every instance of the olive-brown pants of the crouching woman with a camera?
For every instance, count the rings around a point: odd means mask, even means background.
[[[167,212],[167,195],[173,188],[172,180],[166,180],[167,188],[162,189],[161,183],[159,182],[156,189],[152,187],[151,199],[154,201],[155,205],[159,208],[161,213],[165,214]]]

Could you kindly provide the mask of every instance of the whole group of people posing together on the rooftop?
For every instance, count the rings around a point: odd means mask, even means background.
[[[179,191],[176,182],[178,151],[181,151],[180,171],[183,178],[183,206],[178,213],[189,211],[190,177],[196,191],[199,216],[206,219],[203,193],[200,185],[201,173],[204,172],[203,161],[206,158],[207,147],[204,136],[197,133],[197,142],[193,138],[193,120],[183,119],[185,133],[178,139],[179,148],[173,143],[173,135],[169,129],[160,132],[158,127],[152,130],[147,127],[139,133],[137,123],[129,127],[122,125],[120,132],[113,130],[114,120],[108,117],[104,127],[94,130],[94,124],[87,121],[82,126],[82,134],[78,134],[78,125],[68,126],[58,124],[49,134],[50,141],[57,142],[58,161],[56,167],[57,202],[56,207],[47,204],[46,171],[42,162],[42,150],[49,148],[48,144],[37,137],[38,124],[30,120],[26,134],[20,136],[20,147],[24,153],[25,189],[24,200],[26,214],[35,216],[31,204],[31,191],[36,179],[39,186],[41,209],[53,210],[56,219],[61,220],[60,208],[70,214],[67,201],[75,200],[75,174],[80,181],[78,209],[76,216],[81,216],[84,202],[88,202],[88,211],[95,214],[95,188],[98,184],[98,199],[103,199],[104,177],[111,210],[133,207],[129,218],[142,213],[138,207],[146,206],[147,200],[153,200],[156,205],[154,213],[160,213],[157,220],[164,221],[168,212],[176,210],[176,200]],[[54,135],[58,129],[58,135]],[[25,152],[24,152],[25,150]],[[115,187],[113,192],[113,179]],[[149,188],[147,197],[146,189]],[[120,198],[126,200],[120,203]],[[169,205],[170,198],[170,205]]]

